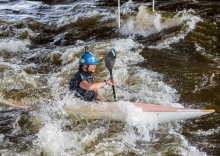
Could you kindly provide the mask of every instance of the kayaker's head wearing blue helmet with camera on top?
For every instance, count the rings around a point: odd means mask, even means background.
[[[79,69],[93,73],[95,72],[97,64],[99,64],[99,62],[96,57],[88,51],[88,47],[85,47],[85,53],[79,58]]]

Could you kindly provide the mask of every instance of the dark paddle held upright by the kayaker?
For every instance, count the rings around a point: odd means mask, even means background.
[[[113,75],[112,75],[112,69],[115,64],[116,60],[116,52],[114,49],[111,49],[108,51],[107,55],[105,56],[105,66],[109,70],[110,78],[113,81]],[[115,86],[112,86],[113,94],[114,94],[114,100],[116,101],[116,94],[115,94]]]

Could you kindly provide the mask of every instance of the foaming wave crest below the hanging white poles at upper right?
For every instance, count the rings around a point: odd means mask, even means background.
[[[169,45],[176,43],[195,29],[196,24],[202,19],[193,15],[193,10],[184,10],[178,12],[176,15],[168,15],[163,12],[152,12],[150,8],[145,6],[139,7],[139,12],[135,16],[130,16],[128,20],[124,20],[120,32],[126,35],[141,35],[149,36],[153,33],[161,32],[164,29],[172,28],[175,26],[183,25],[182,30],[169,34],[162,38],[161,42],[156,46],[149,46],[150,48],[169,48]]]

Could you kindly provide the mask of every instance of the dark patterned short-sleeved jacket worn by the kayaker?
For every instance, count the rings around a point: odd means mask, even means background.
[[[98,93],[96,91],[87,91],[83,88],[80,88],[79,84],[82,80],[86,80],[89,83],[93,83],[94,77],[88,72],[79,70],[76,74],[73,75],[69,89],[70,91],[75,91],[74,95],[78,98],[81,98],[85,101],[95,101],[97,99]]]

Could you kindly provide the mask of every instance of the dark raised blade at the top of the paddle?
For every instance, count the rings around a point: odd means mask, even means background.
[[[105,66],[112,73],[113,66],[116,60],[116,52],[114,49],[108,51],[107,55],[105,56]]]

